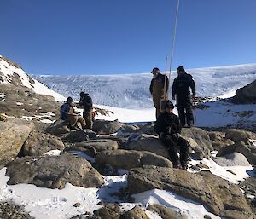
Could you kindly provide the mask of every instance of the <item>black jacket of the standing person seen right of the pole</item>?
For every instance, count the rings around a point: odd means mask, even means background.
[[[189,88],[192,89],[192,94],[195,95],[195,81],[190,74],[185,72],[174,79],[172,84],[172,98],[174,99],[175,95],[177,97],[190,95]]]

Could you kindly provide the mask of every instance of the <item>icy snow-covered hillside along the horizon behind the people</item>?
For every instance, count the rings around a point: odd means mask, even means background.
[[[232,96],[236,89],[256,79],[256,64],[188,69],[195,78],[199,96]],[[173,78],[177,76],[172,72]],[[32,75],[64,96],[79,99],[81,91],[88,92],[96,104],[130,109],[152,107],[150,73],[125,75]]]

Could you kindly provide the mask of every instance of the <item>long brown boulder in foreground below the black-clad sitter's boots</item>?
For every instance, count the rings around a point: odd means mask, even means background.
[[[227,218],[252,218],[253,214],[240,187],[210,172],[189,173],[166,167],[144,166],[128,174],[129,193],[142,193],[154,188],[170,190],[192,199]]]

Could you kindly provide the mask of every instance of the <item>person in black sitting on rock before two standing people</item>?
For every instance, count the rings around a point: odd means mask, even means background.
[[[173,167],[187,170],[189,143],[180,136],[182,126],[179,118],[173,113],[173,108],[172,101],[166,101],[165,112],[157,118],[154,130],[160,141],[168,148]],[[180,146],[180,158],[177,154],[177,145]]]

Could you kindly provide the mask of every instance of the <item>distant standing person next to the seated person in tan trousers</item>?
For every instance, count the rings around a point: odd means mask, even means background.
[[[84,107],[83,118],[86,122],[86,128],[91,130],[93,125],[93,108],[90,95],[81,92],[79,105]]]

